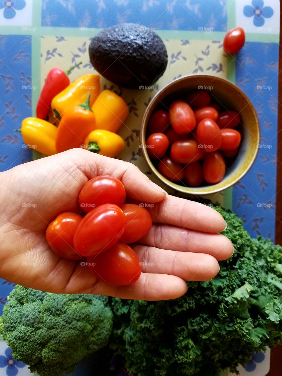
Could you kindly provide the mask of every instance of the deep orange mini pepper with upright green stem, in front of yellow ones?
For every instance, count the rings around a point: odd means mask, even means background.
[[[63,115],[56,137],[58,153],[81,147],[85,138],[95,129],[95,115],[89,106],[90,93],[85,103],[68,109]]]

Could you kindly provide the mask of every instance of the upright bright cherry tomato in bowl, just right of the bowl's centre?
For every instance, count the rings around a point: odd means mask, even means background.
[[[211,119],[203,119],[197,126],[196,136],[199,147],[207,153],[214,152],[220,148],[221,133],[217,124]]]

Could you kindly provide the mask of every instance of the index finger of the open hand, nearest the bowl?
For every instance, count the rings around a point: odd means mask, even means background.
[[[198,202],[167,195],[162,202],[149,208],[153,222],[167,223],[204,232],[226,229],[223,217],[214,209]]]

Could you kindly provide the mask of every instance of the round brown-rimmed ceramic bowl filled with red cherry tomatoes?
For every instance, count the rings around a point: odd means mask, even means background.
[[[249,171],[258,153],[260,126],[250,99],[214,76],[180,77],[149,103],[140,147],[166,186],[205,195],[229,188]]]

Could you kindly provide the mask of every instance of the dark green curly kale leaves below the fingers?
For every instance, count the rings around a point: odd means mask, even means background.
[[[215,208],[234,255],[208,282],[187,282],[179,299],[111,301],[111,347],[138,376],[215,376],[282,341],[282,248],[252,239],[241,218]]]

